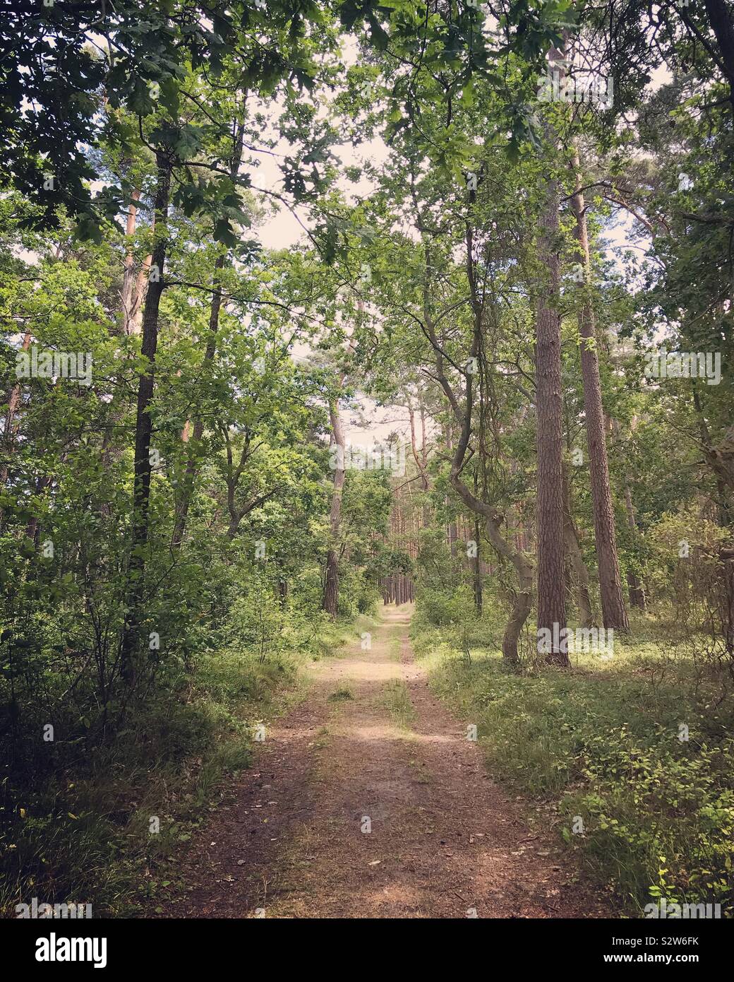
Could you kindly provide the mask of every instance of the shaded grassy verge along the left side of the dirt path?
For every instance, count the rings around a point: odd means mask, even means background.
[[[168,882],[154,873],[250,765],[256,728],[307,689],[307,665],[354,626],[326,627],[306,650],[199,656],[165,697],[138,707],[114,738],[84,747],[0,829],[0,916],[18,903],[91,903],[132,915]],[[225,779],[228,779],[225,781]]]

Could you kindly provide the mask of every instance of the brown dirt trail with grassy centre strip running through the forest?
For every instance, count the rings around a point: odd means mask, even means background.
[[[316,666],[194,840],[178,867],[187,893],[164,916],[608,915],[432,695],[409,619],[386,608],[371,648]]]

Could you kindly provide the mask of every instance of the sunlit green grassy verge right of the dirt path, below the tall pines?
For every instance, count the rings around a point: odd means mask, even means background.
[[[543,804],[557,834],[633,915],[660,897],[734,915],[734,712],[721,679],[650,640],[508,673],[491,626],[416,623],[437,694],[475,723],[490,770]],[[648,634],[650,631],[648,630]],[[633,632],[632,637],[634,638]]]

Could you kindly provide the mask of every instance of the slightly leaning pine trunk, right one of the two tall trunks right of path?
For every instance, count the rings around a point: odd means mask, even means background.
[[[597,540],[599,585],[602,599],[602,620],[606,628],[629,630],[627,611],[622,595],[622,579],[617,558],[614,505],[609,486],[609,464],[606,455],[602,383],[599,375],[597,334],[594,307],[590,297],[592,270],[589,252],[589,234],[586,223],[586,206],[581,191],[579,154],[573,148],[573,167],[576,190],[571,207],[576,216],[576,238],[584,266],[584,297],[579,307],[579,334],[581,335],[581,375],[584,382],[584,412],[586,415],[586,439],[589,450],[592,501],[594,503],[594,531]]]

